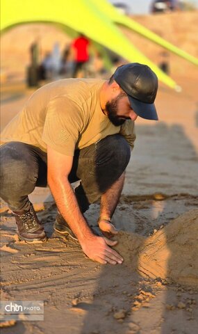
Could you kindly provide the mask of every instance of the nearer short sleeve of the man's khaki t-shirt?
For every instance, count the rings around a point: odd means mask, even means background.
[[[42,140],[53,150],[74,156],[83,128],[81,108],[67,97],[56,97],[47,106]]]

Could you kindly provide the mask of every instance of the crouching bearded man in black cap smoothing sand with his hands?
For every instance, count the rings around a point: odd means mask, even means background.
[[[117,241],[96,235],[83,213],[101,198],[99,228],[117,233],[110,220],[135,141],[134,122],[158,119],[157,89],[147,65],[129,63],[108,81],[63,79],[29,98],[1,134],[1,197],[15,215],[19,239],[46,240],[28,195],[49,184],[59,212],[54,229],[77,238],[90,259],[122,264],[111,248]]]

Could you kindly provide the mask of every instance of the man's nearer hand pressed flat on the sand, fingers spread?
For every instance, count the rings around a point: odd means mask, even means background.
[[[115,250],[109,246],[115,246],[117,241],[109,240],[106,237],[98,237],[97,235],[89,236],[88,239],[81,242],[83,252],[91,260],[101,264],[122,264],[123,258]]]

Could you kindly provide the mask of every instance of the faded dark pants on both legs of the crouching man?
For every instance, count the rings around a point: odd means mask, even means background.
[[[27,210],[28,194],[35,186],[47,186],[47,154],[20,142],[6,143],[0,150],[1,198],[13,211]],[[75,195],[82,212],[122,175],[130,155],[129,144],[119,134],[75,151],[69,182],[81,180]]]

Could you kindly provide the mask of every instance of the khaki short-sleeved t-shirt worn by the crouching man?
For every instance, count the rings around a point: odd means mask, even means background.
[[[1,134],[1,143],[21,141],[47,152],[47,145],[65,155],[110,134],[121,133],[133,148],[134,122],[115,127],[101,110],[104,80],[63,79],[35,91]]]

